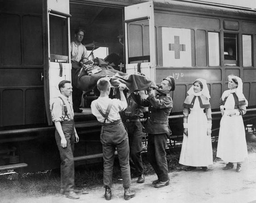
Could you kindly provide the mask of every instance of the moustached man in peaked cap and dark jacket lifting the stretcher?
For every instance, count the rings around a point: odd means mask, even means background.
[[[154,187],[169,185],[165,147],[167,138],[171,134],[168,116],[173,108],[173,100],[169,96],[169,92],[174,89],[174,78],[168,76],[162,79],[158,89],[159,94],[155,95],[152,88],[147,90],[149,97],[146,99],[143,99],[140,94],[132,93],[134,101],[138,105],[149,107],[145,129],[148,133],[148,159],[158,176],[158,180],[154,180],[152,183]]]

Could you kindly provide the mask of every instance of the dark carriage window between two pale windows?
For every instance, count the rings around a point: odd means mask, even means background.
[[[237,34],[224,33],[224,65],[237,66]]]

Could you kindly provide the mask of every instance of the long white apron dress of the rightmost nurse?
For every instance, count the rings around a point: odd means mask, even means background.
[[[217,157],[226,162],[242,162],[248,157],[242,116],[228,116],[239,109],[235,108],[233,94],[229,94],[224,104],[224,114],[221,118]]]

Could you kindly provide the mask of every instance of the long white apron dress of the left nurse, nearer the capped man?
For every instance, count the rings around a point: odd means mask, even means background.
[[[186,166],[208,166],[213,164],[211,136],[207,136],[207,117],[201,109],[198,97],[188,116],[188,136],[183,136],[179,163]]]

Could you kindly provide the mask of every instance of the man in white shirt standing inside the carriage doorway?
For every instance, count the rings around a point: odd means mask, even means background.
[[[80,70],[81,66],[79,62],[82,59],[88,60],[87,49],[81,43],[83,41],[84,30],[79,29],[75,31],[75,40],[71,42],[71,61],[72,61],[72,100],[74,112],[82,113],[83,110],[79,109],[81,104],[83,91],[77,88],[77,78],[75,78],[75,73]]]

